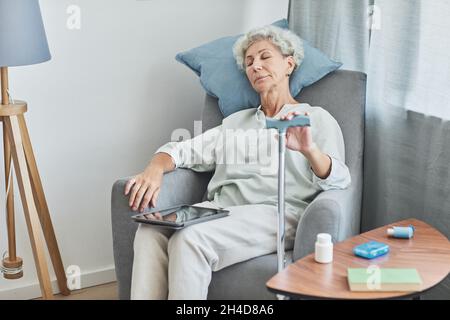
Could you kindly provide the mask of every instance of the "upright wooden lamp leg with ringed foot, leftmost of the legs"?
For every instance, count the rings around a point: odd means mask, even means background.
[[[3,120],[3,118],[2,118]],[[6,268],[16,269],[22,267],[22,259],[16,256],[16,234],[14,222],[14,192],[13,177],[9,180],[9,170],[11,169],[11,148],[6,129],[3,130],[3,150],[5,157],[5,186],[8,192],[6,199],[6,225],[8,229],[8,256],[3,259],[2,264]],[[5,279],[19,279],[23,277],[23,271],[15,274],[5,273]]]

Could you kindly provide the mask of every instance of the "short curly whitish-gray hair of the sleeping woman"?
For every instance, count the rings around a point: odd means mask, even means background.
[[[283,56],[292,56],[295,68],[302,64],[305,57],[302,39],[288,29],[268,25],[250,30],[234,43],[233,56],[236,59],[239,70],[245,71],[245,52],[253,43],[260,40],[270,40]]]

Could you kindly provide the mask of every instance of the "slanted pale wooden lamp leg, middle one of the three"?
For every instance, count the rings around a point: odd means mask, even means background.
[[[16,171],[17,183],[19,185],[23,211],[27,221],[28,234],[30,236],[31,247],[33,249],[33,256],[36,264],[39,284],[41,286],[42,297],[44,299],[53,299],[43,239],[40,233],[39,216],[33,199],[33,191],[31,190],[31,183],[28,175],[25,154],[23,152],[22,137],[17,116],[5,116],[4,124],[10,140],[11,153],[14,160],[14,169]]]

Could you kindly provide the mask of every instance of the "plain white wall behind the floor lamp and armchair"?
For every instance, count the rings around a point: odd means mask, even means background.
[[[203,89],[175,54],[285,18],[288,0],[40,3],[53,58],[10,68],[10,88],[29,104],[26,119],[64,265],[80,266],[86,287],[115,279],[114,181],[140,172],[173,129],[192,132],[200,119]],[[70,5],[81,9],[80,30],[66,27]],[[40,294],[17,185],[14,191],[25,275],[0,279],[0,299]],[[3,254],[4,187],[1,192]]]

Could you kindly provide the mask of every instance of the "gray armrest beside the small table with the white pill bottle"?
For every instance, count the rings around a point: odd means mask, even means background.
[[[322,191],[306,207],[297,226],[293,261],[314,252],[318,233],[329,233],[333,242],[343,240],[340,227],[351,219],[353,196],[352,189]]]

